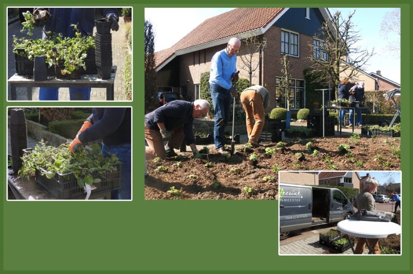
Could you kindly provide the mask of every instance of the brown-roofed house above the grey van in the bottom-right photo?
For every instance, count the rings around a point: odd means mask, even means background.
[[[318,184],[353,187],[360,190],[360,175],[355,171],[323,171],[318,174]]]

